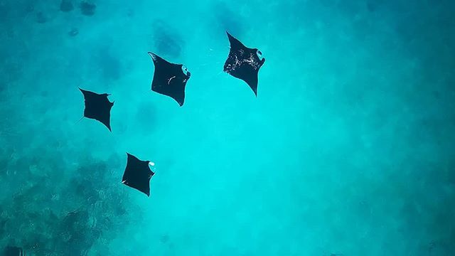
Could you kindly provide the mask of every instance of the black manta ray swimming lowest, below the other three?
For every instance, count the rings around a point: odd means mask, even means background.
[[[122,183],[150,196],[150,179],[155,173],[150,170],[149,166],[154,166],[154,163],[139,160],[132,154],[127,153],[127,156],[127,167],[123,174]]]

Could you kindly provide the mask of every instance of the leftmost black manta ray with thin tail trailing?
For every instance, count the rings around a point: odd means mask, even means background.
[[[84,95],[85,100],[84,117],[100,121],[112,132],[110,121],[111,108],[114,105],[114,102],[109,102],[109,99],[107,98],[109,94],[97,94],[80,88],[79,90]]]

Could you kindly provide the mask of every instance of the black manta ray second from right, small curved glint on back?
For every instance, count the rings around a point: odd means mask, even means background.
[[[172,97],[178,102],[178,105],[183,106],[185,86],[191,73],[182,64],[170,63],[154,53],[149,53],[149,55],[155,65],[151,90]]]

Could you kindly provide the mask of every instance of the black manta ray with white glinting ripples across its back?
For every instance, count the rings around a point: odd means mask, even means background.
[[[250,85],[257,96],[257,73],[265,62],[260,58],[262,53],[257,48],[247,48],[240,41],[228,34],[230,52],[225,62],[224,71]]]

